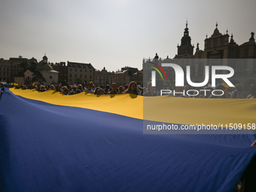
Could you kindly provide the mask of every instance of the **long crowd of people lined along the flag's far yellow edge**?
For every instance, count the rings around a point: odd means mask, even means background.
[[[160,96],[160,95],[169,95],[169,96],[178,96],[185,98],[215,98],[215,99],[255,99],[256,98],[256,82],[251,85],[251,91],[246,92],[243,91],[242,84],[236,84],[233,88],[224,87],[222,84],[218,84],[215,88],[212,87],[203,87],[198,90],[191,90],[190,87],[185,85],[184,87],[173,87],[171,84],[163,84],[162,87],[159,85],[156,87],[152,86],[151,82],[149,82],[145,88],[141,87],[141,85],[137,85],[135,81],[131,81],[130,84],[126,84],[125,86],[117,87],[117,84],[112,83],[110,85],[102,85],[101,87],[95,87],[92,81],[89,84],[73,84],[69,83],[65,86],[62,84],[50,86],[44,86],[42,84],[30,84],[30,85],[17,85],[17,89],[35,89],[41,92],[46,90],[55,90],[57,92],[61,92],[62,94],[69,96],[75,95],[79,93],[91,93],[95,95],[106,95],[106,94],[123,94],[123,93],[131,93],[139,96]],[[202,90],[203,89],[203,90]],[[162,90],[162,93],[161,93]],[[163,90],[168,90],[169,93],[166,93]]]

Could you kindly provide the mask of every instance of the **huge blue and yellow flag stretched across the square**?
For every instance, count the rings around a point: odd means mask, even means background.
[[[129,94],[5,88],[0,122],[1,191],[233,191],[256,154],[254,134],[143,134],[143,98]]]

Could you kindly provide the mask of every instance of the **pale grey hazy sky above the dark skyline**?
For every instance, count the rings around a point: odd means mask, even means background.
[[[0,0],[0,58],[91,63],[95,69],[142,69],[155,53],[173,58],[186,21],[204,48],[218,22],[243,44],[256,32],[255,0]]]

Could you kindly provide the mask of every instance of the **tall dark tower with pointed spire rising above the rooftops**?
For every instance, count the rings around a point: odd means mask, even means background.
[[[178,47],[178,56],[193,55],[194,53],[194,46],[191,44],[191,38],[189,36],[187,23],[186,23],[186,28],[184,29],[184,35],[181,38],[181,45],[177,47]]]

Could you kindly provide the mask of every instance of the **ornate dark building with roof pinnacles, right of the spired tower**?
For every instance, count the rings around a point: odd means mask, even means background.
[[[186,56],[176,55],[175,58],[185,58]],[[246,91],[250,90],[251,84],[256,81],[256,44],[254,32],[248,35],[248,41],[243,44],[236,44],[233,34],[228,32],[222,34],[218,30],[218,23],[210,37],[206,35],[204,50],[200,50],[197,44],[197,50],[190,58],[211,59],[210,66],[230,66],[234,69],[235,74],[230,81],[236,84],[242,84]],[[222,60],[220,60],[222,59]],[[205,65],[200,62],[194,62],[191,66],[195,82],[202,82]]]

